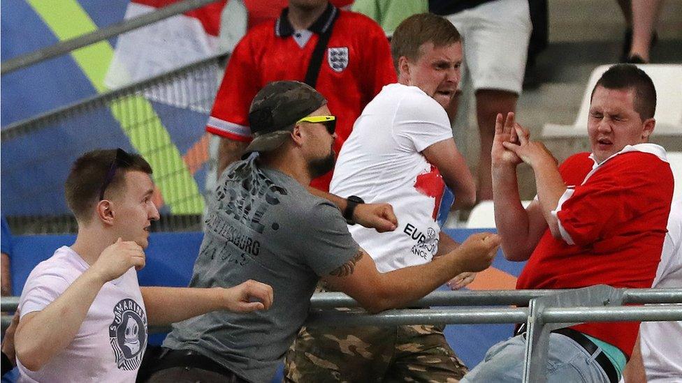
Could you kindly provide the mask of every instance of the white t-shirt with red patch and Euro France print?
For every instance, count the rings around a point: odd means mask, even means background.
[[[388,202],[398,216],[393,232],[349,225],[382,273],[430,262],[437,251],[445,183],[421,151],[442,140],[452,140],[443,107],[418,87],[389,84],[365,107],[341,148],[331,193]]]

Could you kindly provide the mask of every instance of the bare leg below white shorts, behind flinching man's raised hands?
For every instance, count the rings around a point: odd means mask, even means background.
[[[493,179],[491,176],[491,149],[495,136],[495,117],[498,113],[506,116],[516,110],[518,95],[510,91],[480,89],[476,92],[476,117],[481,135],[481,155],[479,157],[477,200],[493,199]]]

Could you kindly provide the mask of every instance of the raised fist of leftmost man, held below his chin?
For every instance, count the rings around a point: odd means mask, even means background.
[[[119,238],[102,251],[89,271],[96,273],[106,283],[122,276],[133,266],[136,270],[145,266],[145,252],[134,241],[122,241]]]

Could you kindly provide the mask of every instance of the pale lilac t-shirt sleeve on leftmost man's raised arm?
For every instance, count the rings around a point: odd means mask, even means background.
[[[57,273],[42,273],[38,276],[29,276],[24,285],[24,291],[19,301],[21,317],[34,311],[41,311],[48,307],[61,294],[66,291],[69,283],[63,276]]]

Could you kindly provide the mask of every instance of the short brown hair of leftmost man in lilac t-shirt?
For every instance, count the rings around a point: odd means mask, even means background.
[[[116,149],[89,151],[75,160],[71,166],[71,172],[64,183],[64,191],[66,204],[76,220],[84,223],[89,221],[92,207],[99,202],[101,188],[115,161],[116,151]],[[106,187],[107,191],[121,188],[124,184],[124,174],[128,171],[138,170],[152,174],[152,167],[142,156],[129,153],[126,159],[126,163],[117,163],[113,179]]]

